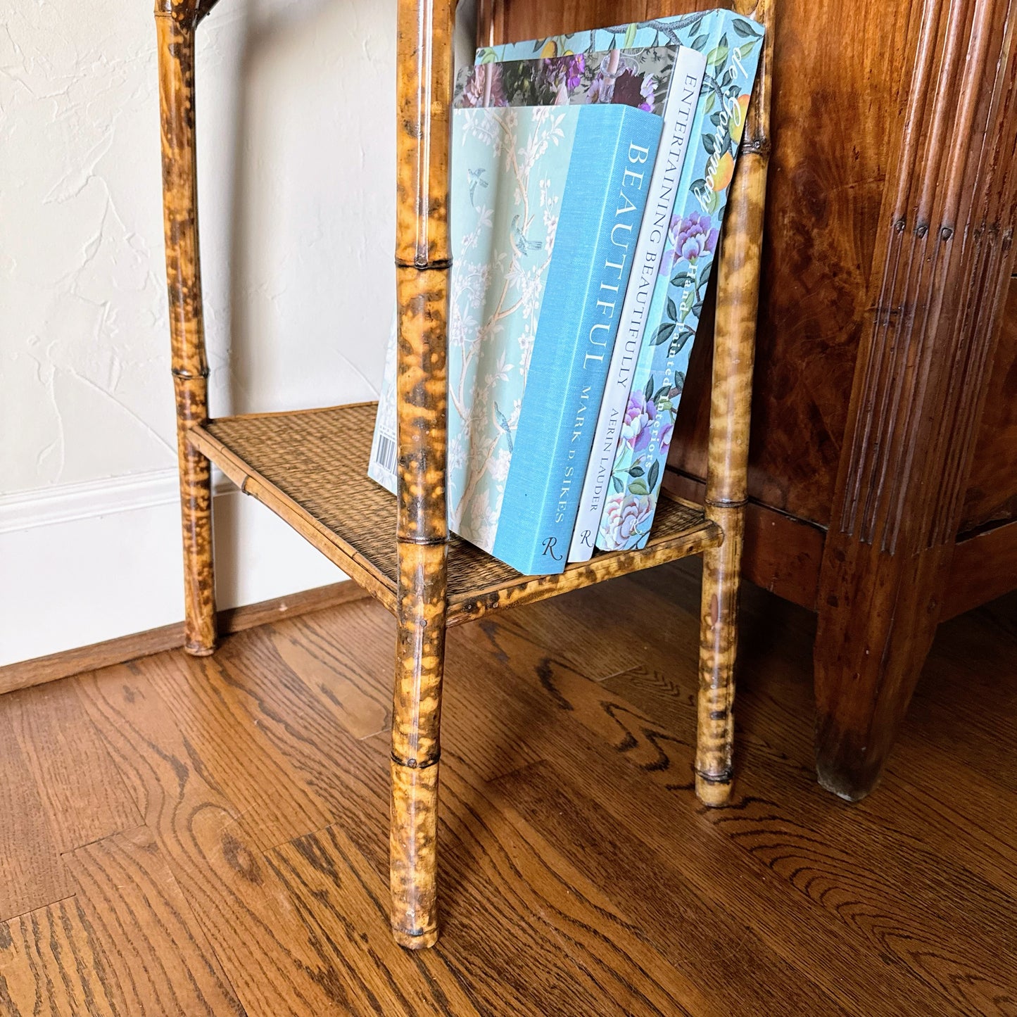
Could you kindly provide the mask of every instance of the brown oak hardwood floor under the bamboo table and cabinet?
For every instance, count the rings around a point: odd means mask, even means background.
[[[882,787],[812,772],[812,616],[744,597],[693,793],[697,564],[450,634],[442,938],[388,936],[372,602],[0,698],[0,1013],[1017,1014],[1017,597],[944,625]]]

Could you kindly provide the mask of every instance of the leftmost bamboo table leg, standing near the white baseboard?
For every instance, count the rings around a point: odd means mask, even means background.
[[[213,3],[165,0],[156,5],[166,284],[184,549],[184,649],[196,656],[216,648],[211,466],[187,440],[188,430],[208,416],[194,149],[194,29]]]

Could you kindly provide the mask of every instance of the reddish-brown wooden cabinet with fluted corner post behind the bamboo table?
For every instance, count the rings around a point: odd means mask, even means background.
[[[502,0],[494,42],[705,9]],[[936,626],[1017,587],[1017,50],[1004,0],[778,0],[745,537],[819,612],[817,760],[868,793]],[[701,336],[711,335],[704,319]],[[669,486],[706,474],[697,345]]]

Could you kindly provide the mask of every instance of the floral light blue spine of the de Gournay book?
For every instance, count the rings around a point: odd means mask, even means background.
[[[763,28],[729,11],[701,27],[706,77],[620,424],[596,543],[605,551],[649,539],[763,45]]]

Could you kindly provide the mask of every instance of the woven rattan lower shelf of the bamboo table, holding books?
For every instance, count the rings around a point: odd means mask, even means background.
[[[376,404],[212,420],[190,442],[238,487],[303,534],[396,610],[396,499],[367,478]],[[612,576],[698,554],[722,534],[702,507],[665,499],[643,551],[598,554],[558,576],[521,576],[457,537],[448,541],[446,623],[553,597]]]

